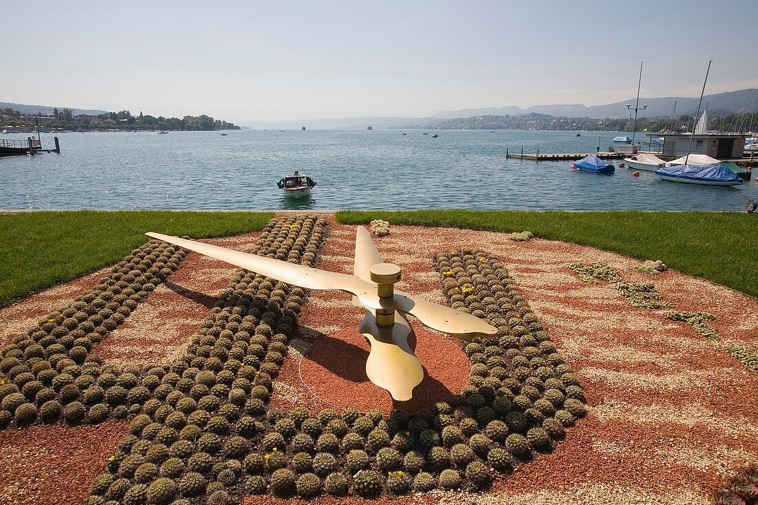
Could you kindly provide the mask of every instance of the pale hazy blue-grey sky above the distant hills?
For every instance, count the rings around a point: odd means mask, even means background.
[[[2,0],[0,101],[245,124],[758,87],[755,2]],[[2,4],[0,4],[2,5]],[[12,22],[11,22],[12,18]]]

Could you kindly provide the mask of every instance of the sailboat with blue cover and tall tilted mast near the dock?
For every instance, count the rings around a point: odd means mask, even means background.
[[[700,91],[700,101],[697,102],[695,118],[700,115],[700,105],[703,105],[703,94],[706,91],[706,83],[708,82],[711,63],[713,63],[713,60],[708,62],[708,70],[706,71],[706,78],[703,80],[703,90]],[[700,120],[699,123],[692,125],[690,143],[687,148],[687,155],[684,156],[684,164],[658,168],[656,170],[656,175],[662,180],[688,184],[703,184],[706,186],[738,186],[741,183],[744,183],[744,180],[742,180],[741,177],[738,177],[737,174],[722,165],[688,165],[691,157],[692,137],[697,134],[698,129],[703,130],[703,133],[700,133],[703,135],[707,130],[708,116],[706,111],[703,111],[703,117],[700,118]]]

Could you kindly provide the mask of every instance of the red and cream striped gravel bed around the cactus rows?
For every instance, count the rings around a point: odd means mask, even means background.
[[[435,491],[397,500],[369,500],[371,503],[709,503],[710,495],[723,476],[745,463],[758,461],[758,375],[748,371],[722,348],[723,343],[738,343],[753,349],[758,346],[758,300],[677,271],[642,274],[634,268],[639,263],[637,260],[586,246],[539,239],[517,243],[507,240],[506,234],[451,228],[392,226],[391,231],[390,236],[374,240],[385,261],[403,266],[404,277],[399,289],[421,293],[429,300],[443,300],[431,263],[435,253],[479,246],[497,256],[509,268],[519,289],[547,327],[559,353],[578,373],[589,414],[568,429],[567,437],[553,453],[519,466],[512,475],[501,475],[487,493]],[[320,267],[352,273],[354,240],[355,227],[332,220]],[[130,358],[131,351],[117,352],[118,346],[129,347],[134,341],[144,344],[147,352],[156,356],[171,356],[174,349],[167,350],[167,347],[186,343],[189,334],[196,330],[194,325],[202,322],[208,302],[218,296],[218,292],[209,287],[208,277],[220,274],[225,267],[201,264],[213,261],[190,254],[180,270],[169,278],[184,290],[167,288],[166,293],[156,290],[158,293],[140,304],[140,309],[146,306],[145,310],[149,311],[152,306],[152,311],[158,311],[153,306],[154,301],[168,304],[169,298],[176,296],[178,305],[171,309],[176,312],[146,312],[140,319],[148,322],[149,314],[153,314],[153,318],[163,324],[124,324],[114,332],[117,334],[107,339],[112,350],[108,352],[112,354],[105,354],[105,348],[101,348],[101,356],[105,356],[106,361],[134,359],[134,356]],[[675,304],[673,310],[716,315],[716,321],[709,324],[719,331],[722,343],[707,340],[686,323],[667,320],[662,315],[664,311],[634,308],[608,283],[584,283],[568,269],[573,262],[597,261],[616,268],[625,281],[653,282],[663,300]],[[220,270],[201,280],[201,274],[196,277],[197,268]],[[233,267],[228,270],[231,274]],[[196,293],[208,298],[202,299]],[[190,303],[187,300],[191,297],[194,300]],[[57,304],[50,306],[44,313],[57,308]],[[135,322],[140,309],[132,315]],[[168,320],[171,314],[173,318]],[[323,406],[300,380],[302,369],[306,382],[315,391],[322,391],[320,395],[328,394],[327,386],[339,379],[344,381],[341,384],[350,384],[349,389],[340,387],[340,390],[344,396],[356,397],[356,403],[389,408],[389,396],[378,388],[366,387],[367,381],[362,375],[365,374],[363,358],[367,347],[362,337],[350,329],[356,328],[362,316],[363,310],[353,308],[346,294],[312,292],[299,318],[301,331],[293,340],[280,377],[274,381],[271,406],[305,405],[312,409]],[[0,311],[4,322],[13,320],[17,324],[16,317],[11,318],[11,312]],[[32,320],[36,318],[35,315]],[[412,325],[416,328],[419,354],[433,341],[456,347],[449,340],[422,330],[418,322],[412,321]],[[136,340],[140,334],[146,340]],[[329,337],[324,338],[325,335]],[[327,372],[320,363],[324,364],[328,357],[334,359],[335,344],[348,350],[355,359],[343,359],[345,368],[331,368]],[[436,353],[434,358],[443,356],[438,363],[445,365],[460,353],[458,349]],[[329,356],[330,350],[332,356]],[[136,359],[143,358],[136,356]],[[467,367],[446,367],[450,374],[442,378],[445,368],[435,369],[427,362],[424,365],[431,378],[449,391],[459,391],[465,384]],[[319,366],[321,375],[316,373]],[[687,388],[684,391],[679,389],[682,384]],[[334,389],[337,388],[332,391]],[[330,400],[346,401],[341,397]],[[90,429],[99,430],[102,426]],[[16,432],[34,433],[36,436],[30,438],[34,441],[42,440],[45,431],[53,431],[55,435],[47,435],[52,437],[60,433],[57,430],[71,429],[85,428],[35,427]],[[0,432],[0,436],[8,437],[10,433]],[[108,442],[109,450],[120,436],[114,435]],[[98,459],[85,460],[70,456],[69,451],[74,447],[68,447],[64,440],[58,439],[61,447],[56,445],[55,450],[61,456],[56,461],[65,461],[72,472],[92,471],[95,475],[102,470],[108,450]],[[4,458],[2,463],[5,472],[0,473],[0,496],[23,488],[20,475],[24,466],[29,466],[18,456]],[[91,470],[94,467],[98,470]],[[30,473],[40,478],[45,475],[34,469]],[[86,488],[92,475],[84,479]],[[57,492],[57,489],[51,488],[51,491]],[[80,498],[86,495],[83,489],[67,488],[66,491]],[[248,497],[245,503],[284,501],[302,500]],[[356,497],[343,500],[322,497],[312,503],[365,501]],[[55,503],[55,500],[36,503]]]

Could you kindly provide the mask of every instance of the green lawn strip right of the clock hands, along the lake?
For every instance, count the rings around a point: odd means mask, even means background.
[[[528,212],[528,211],[341,211],[337,221],[426,224],[492,231],[531,231],[620,252],[660,259],[672,268],[758,296],[758,218],[737,212]],[[390,226],[391,230],[391,226]],[[486,244],[481,244],[486,249]]]

